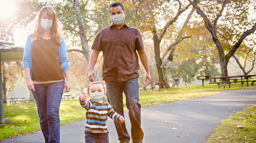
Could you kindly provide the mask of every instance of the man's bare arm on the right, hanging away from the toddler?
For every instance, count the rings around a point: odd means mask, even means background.
[[[151,81],[151,77],[150,77],[147,53],[146,53],[145,49],[137,50],[137,51],[139,53],[139,56],[140,56],[140,59],[141,59],[141,63],[142,63],[143,67],[146,70],[146,73],[145,73],[145,78],[146,78],[145,85],[149,85],[150,81]]]

